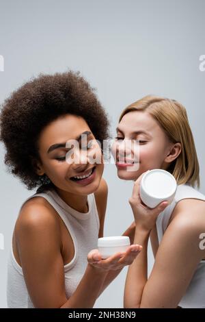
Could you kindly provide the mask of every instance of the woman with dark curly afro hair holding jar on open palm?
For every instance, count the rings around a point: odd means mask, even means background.
[[[92,308],[141,250],[131,245],[102,260],[96,249],[107,184],[103,162],[90,162],[90,156],[94,149],[96,160],[103,161],[95,143],[108,138],[108,125],[94,90],[72,71],[31,79],[3,104],[5,164],[29,190],[38,188],[23,203],[14,227],[9,308]],[[80,158],[66,162],[66,143],[73,140]],[[133,226],[124,234],[132,240]]]

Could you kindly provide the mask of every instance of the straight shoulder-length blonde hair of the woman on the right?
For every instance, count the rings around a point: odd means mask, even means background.
[[[182,150],[167,171],[174,175],[178,184],[200,187],[200,166],[189,126],[187,112],[174,99],[148,95],[129,105],[122,111],[122,117],[133,111],[146,111],[156,120],[172,143],[180,143]]]

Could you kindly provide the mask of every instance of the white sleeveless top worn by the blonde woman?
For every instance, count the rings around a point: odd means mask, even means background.
[[[189,184],[180,184],[177,187],[174,201],[170,203],[167,208],[161,214],[159,214],[156,220],[156,230],[159,239],[159,243],[163,238],[163,234],[169,224],[169,219],[172,215],[176,203],[182,199],[200,199],[205,201],[205,196],[199,191],[195,190]],[[194,213],[193,213],[194,214]],[[205,214],[204,214],[205,220]],[[200,243],[200,240],[199,240]],[[192,277],[192,280],[187,288],[186,293],[182,297],[178,306],[182,308],[205,308],[205,261],[197,265],[197,269]]]

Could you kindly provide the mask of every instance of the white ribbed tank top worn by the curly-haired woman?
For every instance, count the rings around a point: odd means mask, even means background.
[[[88,212],[82,213],[72,209],[59,197],[54,189],[35,193],[31,197],[44,197],[64,221],[74,243],[74,258],[64,265],[66,297],[76,290],[87,267],[87,253],[97,248],[99,217],[94,194],[87,196]],[[34,308],[25,284],[23,271],[14,258],[11,245],[8,258],[7,280],[8,308]]]

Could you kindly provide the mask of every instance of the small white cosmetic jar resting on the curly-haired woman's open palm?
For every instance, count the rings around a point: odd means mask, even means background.
[[[124,252],[131,245],[128,236],[111,236],[98,238],[98,251],[102,259],[113,256],[119,251]]]

